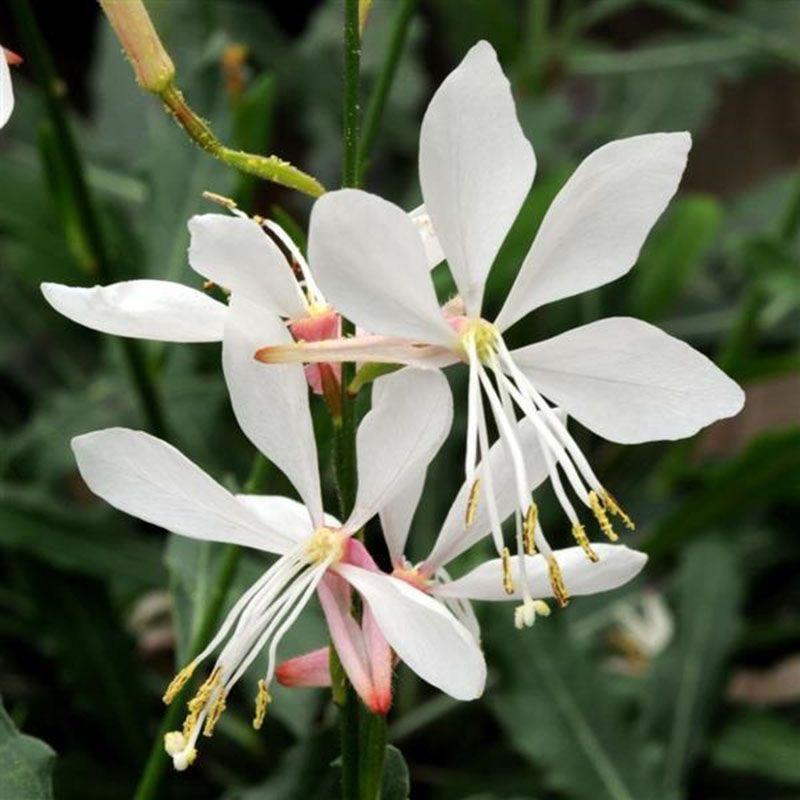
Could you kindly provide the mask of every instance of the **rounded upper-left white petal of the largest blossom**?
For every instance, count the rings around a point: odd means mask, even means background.
[[[328,192],[314,204],[309,259],[325,297],[359,327],[450,346],[422,241],[408,215],[356,189]]]

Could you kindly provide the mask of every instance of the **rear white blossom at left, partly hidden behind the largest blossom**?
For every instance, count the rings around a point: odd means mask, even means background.
[[[226,205],[233,216],[198,214],[189,220],[189,264],[195,272],[212,286],[279,315],[297,341],[338,337],[340,316],[289,234],[274,220],[248,217],[227,198],[206,196]],[[410,217],[425,246],[432,248],[431,257],[440,261],[424,211],[415,209]],[[227,304],[175,281],[138,279],[92,287],[43,283],[41,289],[56,311],[102,333],[160,342],[222,340]],[[326,380],[338,382],[339,372],[338,364],[312,364],[306,377],[321,394]]]

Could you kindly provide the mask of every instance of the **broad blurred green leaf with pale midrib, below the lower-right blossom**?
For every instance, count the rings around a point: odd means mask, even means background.
[[[646,743],[634,735],[612,681],[571,641],[563,616],[514,631],[507,609],[484,626],[507,663],[492,710],[512,745],[570,800],[655,800]],[[502,616],[500,616],[502,614]]]

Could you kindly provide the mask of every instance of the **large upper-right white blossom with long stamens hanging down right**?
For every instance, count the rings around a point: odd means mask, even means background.
[[[487,452],[488,411],[514,464],[516,513],[547,552],[544,535],[530,524],[530,482],[513,424],[521,413],[542,442],[573,535],[594,559],[576,501],[612,541],[614,517],[629,528],[633,522],[553,406],[605,439],[633,444],[691,436],[735,414],[743,393],[705,356],[629,317],[602,319],[513,351],[503,334],[528,312],[630,270],[678,187],[689,147],[687,133],[656,133],[592,153],[550,206],[499,314],[485,319],[486,279],[536,162],[508,80],[491,46],[481,42],[435,93],[420,136],[423,220],[438,237],[459,296],[439,307],[417,229],[399,208],[363,191],[332,192],[312,211],[315,275],[336,308],[372,334],[290,345],[265,340],[257,358],[467,364],[470,508],[483,494],[490,502],[491,487],[479,487],[476,476],[478,454]]]

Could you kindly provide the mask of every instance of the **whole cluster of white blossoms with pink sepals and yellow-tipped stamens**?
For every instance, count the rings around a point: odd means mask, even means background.
[[[536,162],[508,81],[482,42],[425,114],[424,205],[410,214],[366,192],[328,193],[312,210],[308,261],[272,221],[232,206],[231,214],[194,217],[189,263],[223,290],[224,301],[157,280],[43,285],[54,308],[99,331],[221,341],[240,427],[301,498],[231,494],[140,431],[114,428],[73,441],[87,485],[115,507],[183,536],[277,556],[165,692],[172,702],[215,655],[182,730],[165,739],[177,769],[193,762],[198,736],[213,733],[256,659],[264,662],[256,728],[273,680],[330,685],[328,646],[278,663],[281,640],[315,593],[348,678],[372,711],[386,713],[396,659],[455,698],[482,693],[486,665],[471,601],[515,602],[514,622],[524,628],[550,613],[545,598],[564,606],[638,574],[646,557],[615,544],[633,521],[592,469],[567,415],[614,442],[678,439],[735,414],[741,389],[703,355],[636,319],[599,320],[513,350],[504,336],[529,312],[633,266],[678,187],[689,147],[686,133],[658,133],[592,153],[551,205],[500,312],[487,319],[489,270]],[[445,259],[458,295],[440,306],[430,271]],[[341,337],[340,315],[357,335]],[[355,507],[340,521],[322,505],[307,384],[338,396],[344,361],[403,368],[373,384],[356,437]],[[464,482],[430,554],[412,563],[405,555],[412,519],[452,422],[442,370],[457,364],[468,370]],[[534,492],[548,480],[573,547],[554,549],[539,521]],[[387,570],[356,536],[375,516],[391,557]],[[509,546],[503,524],[512,518]],[[587,519],[608,541],[592,541]],[[451,562],[487,537],[497,557],[452,578]]]

